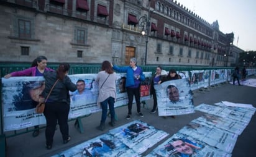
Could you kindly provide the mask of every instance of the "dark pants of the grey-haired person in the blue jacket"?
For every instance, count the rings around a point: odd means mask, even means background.
[[[126,88],[128,95],[128,114],[132,114],[132,101],[134,100],[137,104],[137,112],[140,112],[140,87],[138,88]]]

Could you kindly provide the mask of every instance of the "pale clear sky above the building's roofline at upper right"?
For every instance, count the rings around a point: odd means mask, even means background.
[[[175,1],[175,0],[173,0]],[[234,45],[256,51],[255,0],[176,0],[209,23],[218,21],[222,33],[234,33]],[[239,38],[237,42],[237,38]]]

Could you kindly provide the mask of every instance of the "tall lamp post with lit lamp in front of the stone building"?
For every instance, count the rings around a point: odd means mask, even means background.
[[[141,34],[146,35],[146,49],[145,49],[145,65],[147,65],[147,45],[149,43],[149,27],[150,27],[150,0],[148,6],[148,14],[140,17],[139,19],[139,27],[142,28]]]

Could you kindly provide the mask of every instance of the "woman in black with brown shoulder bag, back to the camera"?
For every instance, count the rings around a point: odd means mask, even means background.
[[[43,90],[43,99],[45,102],[43,114],[46,119],[46,148],[52,148],[55,127],[60,125],[63,143],[70,141],[68,133],[68,113],[70,111],[70,95],[68,91],[75,91],[76,85],[71,82],[68,75],[70,65],[67,63],[60,64],[56,72],[47,71],[43,74],[45,78],[45,89]],[[46,101],[45,101],[46,100]]]

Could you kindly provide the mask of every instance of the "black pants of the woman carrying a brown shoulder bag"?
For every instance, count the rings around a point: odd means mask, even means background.
[[[68,113],[70,105],[66,103],[45,103],[43,112],[46,119],[45,138],[47,145],[52,145],[55,128],[58,122],[63,140],[68,139]]]

